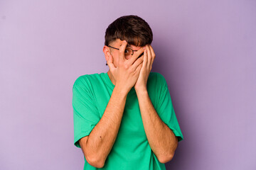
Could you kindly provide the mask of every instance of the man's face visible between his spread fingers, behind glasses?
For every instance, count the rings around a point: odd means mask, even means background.
[[[120,46],[122,45],[122,42],[124,42],[124,40],[120,40],[120,39],[117,39],[117,40],[114,40],[113,42],[111,42],[110,46],[111,47],[108,47],[110,49],[110,55],[112,55],[113,57],[113,63],[114,63],[114,67],[118,67],[118,62],[119,62],[119,50],[116,50],[112,47],[115,47],[115,48],[120,48]],[[106,46],[107,47],[107,46]],[[139,50],[140,48],[142,47],[139,47],[139,46],[134,46],[134,45],[129,45],[127,44],[127,47],[130,47],[132,48],[132,50]],[[134,51],[134,54],[136,53],[136,51]],[[132,55],[127,55],[125,56],[125,58],[127,60],[129,60],[130,58],[132,57]]]

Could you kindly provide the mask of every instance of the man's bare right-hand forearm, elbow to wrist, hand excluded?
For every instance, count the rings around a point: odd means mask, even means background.
[[[178,140],[174,132],[159,118],[146,89],[136,92],[149,145],[159,162],[169,162],[174,156]]]

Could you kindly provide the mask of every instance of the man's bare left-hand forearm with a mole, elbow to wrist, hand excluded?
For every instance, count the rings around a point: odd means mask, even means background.
[[[117,138],[127,94],[127,91],[115,86],[100,121],[92,129],[89,136],[79,140],[85,159],[90,165],[97,168],[104,166]]]

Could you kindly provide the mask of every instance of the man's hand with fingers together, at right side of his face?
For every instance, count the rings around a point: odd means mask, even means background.
[[[146,45],[145,48],[146,49],[144,51],[144,60],[143,60],[142,69],[140,70],[139,78],[134,85],[134,89],[136,91],[146,90],[146,82],[147,82],[147,79],[149,78],[149,73],[151,72],[152,64],[156,57],[153,47],[151,47],[151,45]]]

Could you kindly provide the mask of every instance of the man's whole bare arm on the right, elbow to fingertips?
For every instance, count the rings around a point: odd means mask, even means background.
[[[157,159],[159,159],[159,162],[166,163],[174,157],[174,152],[178,146],[178,138],[159,118],[146,89],[147,79],[149,78],[155,57],[153,47],[146,45],[142,69],[134,89],[139,100],[139,109],[149,145],[154,154],[156,154]]]

